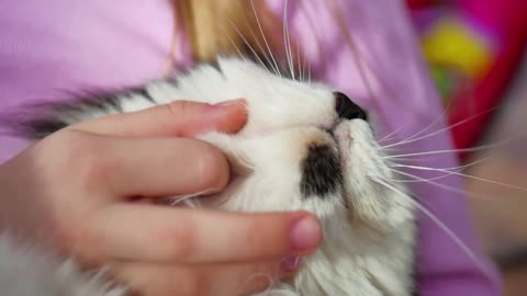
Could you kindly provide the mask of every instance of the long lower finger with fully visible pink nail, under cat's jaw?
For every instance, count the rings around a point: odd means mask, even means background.
[[[224,263],[310,253],[322,235],[307,213],[244,214],[117,204],[93,215],[83,236],[88,243],[79,248],[87,258]]]

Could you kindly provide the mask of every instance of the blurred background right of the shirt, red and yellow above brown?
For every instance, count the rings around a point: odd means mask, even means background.
[[[466,184],[481,242],[502,271],[504,295],[527,295],[527,0],[407,7],[449,124],[459,123],[451,133],[460,160],[484,159],[462,171],[478,178]]]

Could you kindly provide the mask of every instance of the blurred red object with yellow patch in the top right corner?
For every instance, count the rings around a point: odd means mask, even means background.
[[[472,117],[452,128],[456,146],[469,148],[482,136],[520,65],[527,1],[407,2],[431,75],[448,106],[449,123]]]

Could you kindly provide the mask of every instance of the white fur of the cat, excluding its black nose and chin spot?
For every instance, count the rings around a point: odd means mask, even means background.
[[[199,138],[220,147],[235,175],[215,204],[226,210],[262,212],[305,209],[321,220],[323,243],[303,260],[289,283],[271,283],[259,295],[407,296],[413,287],[415,221],[413,201],[400,184],[394,190],[377,180],[393,180],[370,125],[361,119],[340,121],[333,89],[318,83],[280,78],[237,58],[199,66],[147,91],[157,103],[191,99],[217,103],[245,98],[248,123],[236,135],[208,133]],[[141,94],[121,100],[125,112],[154,103]],[[69,116],[75,123],[106,115],[86,110]],[[333,136],[327,133],[333,130]],[[343,184],[328,196],[302,196],[301,163],[309,147],[329,146],[339,155]],[[90,280],[71,265],[44,252],[13,248],[0,238],[2,296],[115,296],[100,277]],[[250,275],[248,275],[250,276]],[[271,275],[272,276],[272,275]]]

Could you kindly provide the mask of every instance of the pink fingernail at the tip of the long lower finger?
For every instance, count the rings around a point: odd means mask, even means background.
[[[291,247],[294,251],[303,251],[318,244],[321,226],[312,216],[296,220],[291,228]]]

